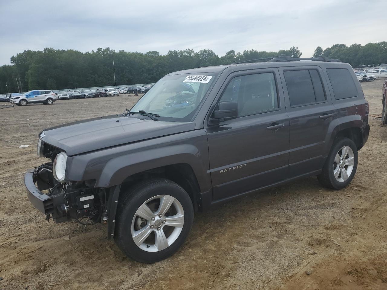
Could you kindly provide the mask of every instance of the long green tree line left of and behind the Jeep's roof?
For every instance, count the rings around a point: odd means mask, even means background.
[[[171,50],[166,55],[158,51],[147,53],[115,51],[98,48],[82,53],[73,49],[45,48],[43,51],[25,50],[11,57],[12,65],[0,67],[0,93],[22,92],[34,89],[74,89],[117,85],[147,84],[157,82],[170,72],[189,68],[231,64],[244,60],[291,55],[300,57],[297,47],[280,51],[245,50],[228,51],[217,56],[211,49],[195,52],[192,49]]]

